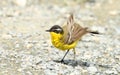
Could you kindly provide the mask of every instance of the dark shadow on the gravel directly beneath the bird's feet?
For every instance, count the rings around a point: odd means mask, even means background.
[[[61,63],[61,64],[65,64],[65,65],[70,65],[70,66],[83,66],[83,67],[89,67],[90,63],[89,62],[83,62],[81,60],[64,60],[64,61],[59,61],[59,60],[53,60],[56,63]]]

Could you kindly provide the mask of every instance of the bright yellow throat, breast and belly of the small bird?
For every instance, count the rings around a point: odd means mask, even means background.
[[[51,32],[50,34],[51,34],[52,44],[60,50],[68,50],[68,49],[75,48],[75,46],[78,42],[78,41],[76,41],[72,44],[65,44],[64,42],[61,41],[61,38],[62,38],[61,34],[56,34],[54,32]]]

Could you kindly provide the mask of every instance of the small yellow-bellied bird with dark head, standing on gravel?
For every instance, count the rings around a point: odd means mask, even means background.
[[[75,23],[73,14],[70,15],[67,24],[63,27],[60,27],[59,25],[54,25],[46,31],[50,32],[52,44],[56,48],[63,51],[67,50],[61,62],[64,62],[64,58],[70,49],[73,49],[75,59],[75,47],[83,35],[85,35],[86,33],[99,34],[96,31],[90,31],[88,30],[88,28],[83,28],[78,23]]]

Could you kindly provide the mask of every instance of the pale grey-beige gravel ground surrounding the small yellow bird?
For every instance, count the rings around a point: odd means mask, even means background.
[[[23,1],[19,3],[19,1]],[[2,0],[0,2],[0,75],[120,75],[119,0]],[[98,30],[85,35],[65,54],[54,48],[51,26],[75,21]]]

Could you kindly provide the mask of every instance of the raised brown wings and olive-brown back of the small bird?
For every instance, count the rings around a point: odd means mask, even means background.
[[[74,22],[73,14],[70,15],[67,25],[63,26],[63,39],[65,44],[71,44],[79,40],[84,34],[87,33],[87,28],[82,28],[79,24]]]

